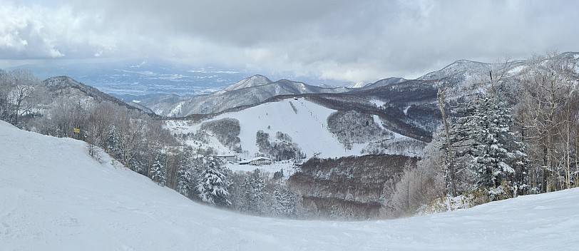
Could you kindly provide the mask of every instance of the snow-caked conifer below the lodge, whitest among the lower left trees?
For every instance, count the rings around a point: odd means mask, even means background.
[[[198,196],[203,202],[229,207],[231,202],[227,188],[230,184],[226,169],[219,160],[213,157],[204,159],[196,186]]]

